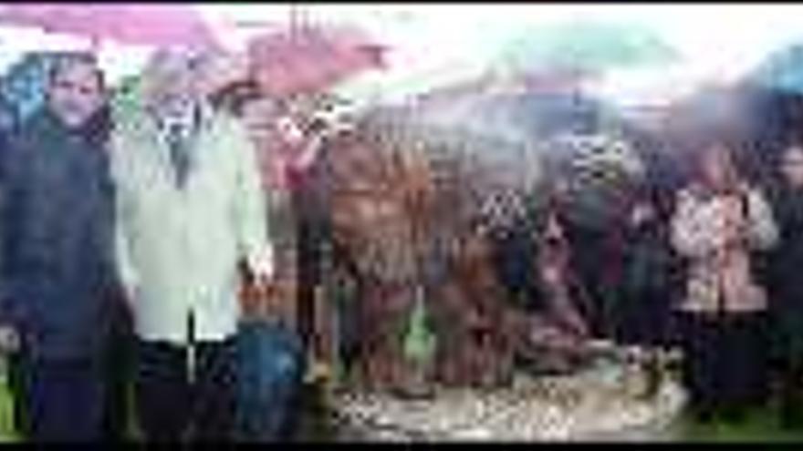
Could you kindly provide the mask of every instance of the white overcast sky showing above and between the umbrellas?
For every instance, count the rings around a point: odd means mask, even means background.
[[[258,26],[287,23],[287,4],[197,5],[214,22],[225,43],[242,48]],[[593,17],[616,22],[646,24],[683,56],[683,64],[667,72],[666,80],[738,77],[772,48],[795,39],[803,41],[803,5],[439,5],[439,4],[338,4],[296,7],[313,20],[348,21],[364,26],[395,52],[391,70],[367,80],[413,79],[437,84],[480,70],[499,52],[506,39],[525,29],[550,22]],[[47,36],[36,30],[0,28],[0,70],[21,53],[36,47],[88,46],[67,36]],[[105,44],[104,64],[112,77],[137,70],[147,49]],[[417,78],[416,78],[417,77]],[[612,77],[611,92],[635,92],[652,86],[654,75],[624,74]],[[649,79],[649,82],[646,81]],[[401,82],[400,82],[401,83]],[[619,85],[619,87],[614,86]],[[666,81],[667,87],[677,83]],[[379,85],[378,85],[379,86]]]

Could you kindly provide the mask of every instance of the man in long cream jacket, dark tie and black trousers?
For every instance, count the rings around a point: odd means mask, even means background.
[[[207,56],[161,51],[115,102],[117,244],[138,343],[147,439],[232,437],[238,262],[272,273],[255,150],[209,108]]]

